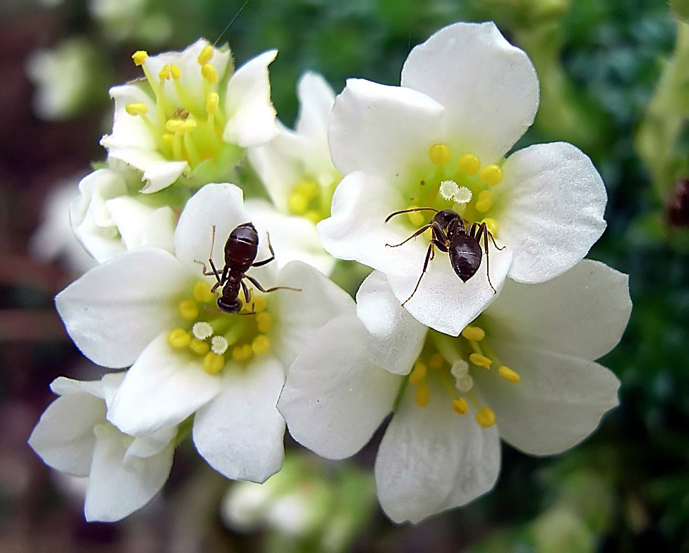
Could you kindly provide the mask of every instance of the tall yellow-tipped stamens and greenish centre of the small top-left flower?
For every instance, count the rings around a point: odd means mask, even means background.
[[[211,159],[223,148],[225,115],[220,110],[220,95],[216,88],[220,76],[211,63],[214,48],[205,46],[198,55],[198,71],[203,77],[205,101],[199,101],[180,81],[181,69],[174,63],[165,65],[154,79],[146,65],[147,52],[134,52],[132,59],[142,68],[155,96],[155,114],[148,113],[143,102],[125,105],[125,111],[132,117],[141,117],[156,140],[158,150],[167,159],[187,161],[194,168]],[[173,105],[166,94],[172,86],[182,105]],[[202,105],[203,104],[203,105]]]

